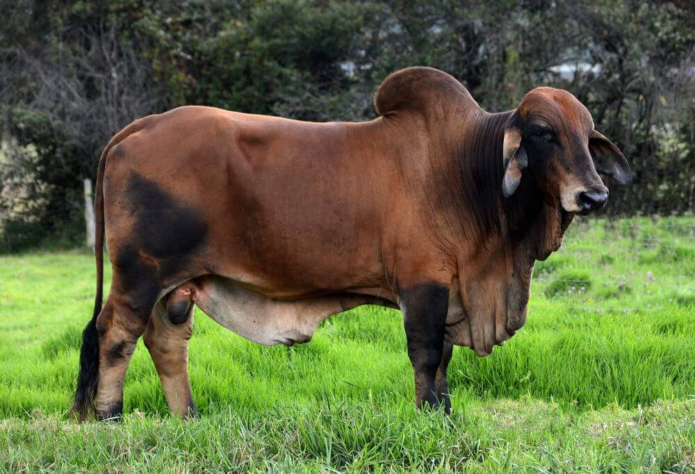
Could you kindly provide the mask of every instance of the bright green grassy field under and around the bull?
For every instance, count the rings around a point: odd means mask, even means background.
[[[124,423],[76,424],[94,271],[79,252],[0,257],[1,471],[695,471],[694,218],[574,224],[524,329],[484,359],[455,350],[450,418],[414,409],[400,313],[363,307],[293,348],[198,311],[199,420],[167,414],[140,343]]]

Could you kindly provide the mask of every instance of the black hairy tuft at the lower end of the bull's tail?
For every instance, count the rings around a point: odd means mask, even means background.
[[[100,295],[98,295],[100,296]],[[90,411],[95,410],[97,381],[99,379],[99,334],[97,334],[97,316],[101,312],[101,298],[95,302],[94,316],[82,332],[82,349],[80,350],[80,372],[72,402],[72,413],[80,421]]]

